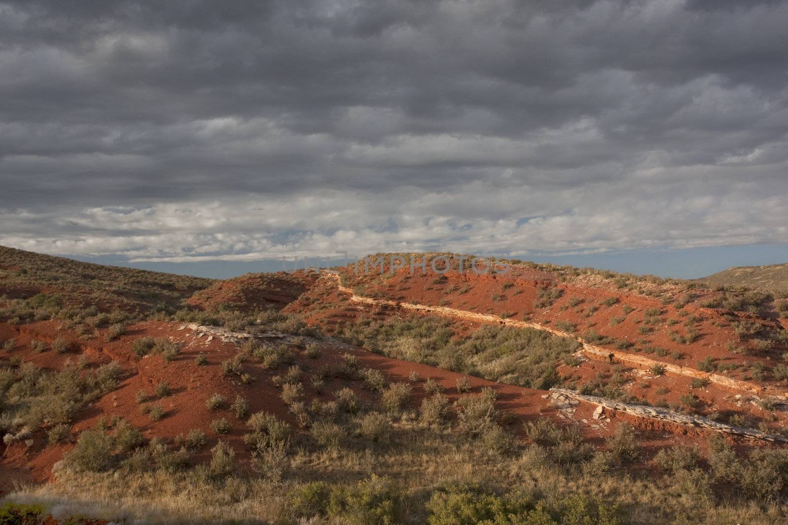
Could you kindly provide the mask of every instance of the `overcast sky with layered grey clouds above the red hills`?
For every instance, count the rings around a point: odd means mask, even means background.
[[[788,2],[0,0],[0,245],[788,261]],[[228,275],[225,275],[228,274]]]

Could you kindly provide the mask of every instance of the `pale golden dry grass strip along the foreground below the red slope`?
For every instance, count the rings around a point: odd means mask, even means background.
[[[516,487],[548,501],[583,494],[618,504],[628,516],[621,523],[784,523],[786,512],[778,505],[708,505],[667,480],[635,479],[624,471],[600,473],[577,465],[562,469],[546,461],[540,449],[500,456],[457,434],[427,430],[412,416],[393,423],[384,444],[352,438],[327,449],[296,447],[279,483],[255,475],[217,481],[200,467],[174,473],[124,472],[123,483],[112,472],[74,474],[59,469],[54,482],[20,488],[6,500],[147,523],[297,523],[288,505],[294,488],[321,479],[349,489],[374,474],[399,479],[408,487],[406,523],[425,523],[429,494],[448,482],[475,482],[496,491]],[[689,521],[675,522],[680,516]],[[335,517],[312,523],[348,522]]]

